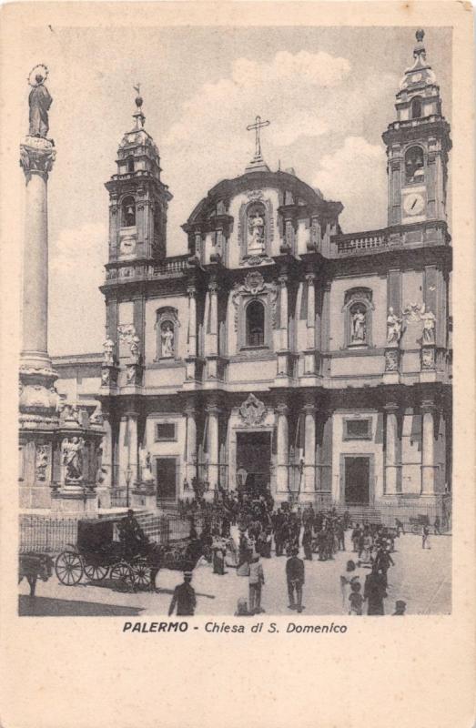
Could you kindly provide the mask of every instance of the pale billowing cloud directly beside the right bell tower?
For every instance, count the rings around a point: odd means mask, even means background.
[[[333,154],[320,159],[313,180],[324,197],[344,205],[340,224],[346,231],[370,230],[387,224],[385,149],[362,136],[347,136]]]

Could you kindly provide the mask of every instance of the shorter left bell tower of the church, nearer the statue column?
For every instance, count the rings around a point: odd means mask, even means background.
[[[160,179],[157,145],[144,128],[140,86],[134,128],[117,150],[117,171],[108,182],[109,264],[165,258],[167,207],[172,195]]]

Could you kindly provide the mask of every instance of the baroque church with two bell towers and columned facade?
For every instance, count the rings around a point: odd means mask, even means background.
[[[256,150],[208,191],[167,256],[157,145],[137,96],[109,194],[104,355],[57,357],[100,401],[100,505],[218,489],[276,502],[415,508],[451,498],[450,126],[417,33],[382,135],[388,226],[344,234],[340,202]]]

